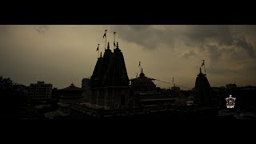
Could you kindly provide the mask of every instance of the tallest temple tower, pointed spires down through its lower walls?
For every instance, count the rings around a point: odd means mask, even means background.
[[[130,97],[130,81],[118,42],[114,52],[108,42],[90,78],[90,104],[107,108],[126,106]]]

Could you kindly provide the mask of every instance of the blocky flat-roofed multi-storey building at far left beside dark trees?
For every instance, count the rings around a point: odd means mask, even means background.
[[[31,83],[29,97],[31,100],[46,100],[52,98],[52,84],[45,82]]]

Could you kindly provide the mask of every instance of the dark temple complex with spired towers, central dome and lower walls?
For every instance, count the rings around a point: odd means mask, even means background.
[[[85,102],[70,102],[69,120],[214,120],[218,110],[211,100],[210,83],[200,67],[194,93],[183,96],[178,86],[172,93],[158,92],[154,78],[141,73],[129,79],[122,50],[117,45],[98,57]]]

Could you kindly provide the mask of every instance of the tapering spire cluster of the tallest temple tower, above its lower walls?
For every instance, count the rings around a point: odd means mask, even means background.
[[[126,64],[119,49],[118,42],[114,52],[110,50],[110,43],[108,42],[107,49],[102,58],[98,58],[94,73],[90,78],[90,86],[127,86],[129,85],[129,78],[126,71]]]

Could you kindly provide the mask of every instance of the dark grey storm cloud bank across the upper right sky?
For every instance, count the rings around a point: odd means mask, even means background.
[[[166,43],[173,48],[175,42],[183,43],[200,51],[208,50],[211,60],[218,60],[222,56],[224,47],[241,47],[251,58],[255,58],[254,46],[246,41],[246,34],[256,36],[255,26],[114,26],[118,37],[128,42],[143,46],[146,50],[154,50],[160,43]],[[245,31],[246,33],[242,33]],[[255,41],[255,39],[254,39]],[[214,42],[214,46],[211,43]],[[194,51],[194,50],[193,50]],[[183,54],[183,58],[196,56],[193,51]],[[232,51],[232,50],[231,50]],[[233,54],[236,53],[233,50]],[[239,54],[238,54],[239,55]],[[230,57],[233,58],[233,57]]]

